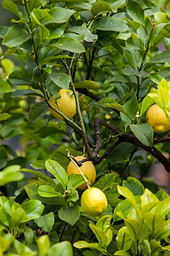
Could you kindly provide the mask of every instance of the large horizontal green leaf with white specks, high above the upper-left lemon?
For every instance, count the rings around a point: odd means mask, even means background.
[[[53,46],[61,50],[68,50],[77,54],[85,51],[83,45],[77,39],[69,37],[59,38],[54,44],[48,46]]]

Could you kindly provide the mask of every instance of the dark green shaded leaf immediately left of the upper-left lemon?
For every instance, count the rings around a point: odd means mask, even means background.
[[[37,122],[39,122],[42,117],[45,115],[45,113],[48,112],[48,105],[45,102],[38,102],[35,103],[30,110],[29,113],[29,123],[31,125],[35,125],[37,124]]]

